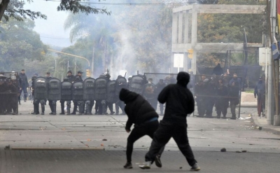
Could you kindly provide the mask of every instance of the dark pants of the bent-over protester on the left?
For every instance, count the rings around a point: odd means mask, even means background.
[[[149,123],[144,123],[142,125],[135,126],[132,132],[130,133],[130,136],[127,138],[127,162],[132,161],[132,151],[133,151],[133,144],[135,141],[140,139],[141,137],[144,137],[145,135],[148,135],[153,139],[153,134],[155,130],[158,129],[158,120],[154,120]],[[165,146],[162,146],[157,155],[161,155],[164,151]]]

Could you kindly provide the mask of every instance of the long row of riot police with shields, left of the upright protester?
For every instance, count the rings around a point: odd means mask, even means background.
[[[39,114],[39,104],[41,104],[41,114],[45,113],[45,104],[48,100],[51,112],[56,114],[57,101],[61,103],[61,113],[76,115],[85,114],[92,115],[92,109],[95,102],[95,114],[107,114],[107,109],[111,114],[114,114],[113,104],[116,106],[116,115],[119,114],[119,109],[125,114],[125,104],[120,101],[119,93],[122,88],[127,88],[133,92],[143,95],[148,102],[157,109],[158,94],[165,88],[166,83],[160,79],[157,85],[153,84],[153,79],[146,79],[144,75],[134,75],[128,78],[118,76],[116,80],[111,80],[108,74],[102,74],[99,78],[86,78],[85,81],[81,78],[83,72],[78,71],[77,76],[73,76],[71,71],[68,71],[64,81],[59,81],[57,78],[52,78],[48,74],[44,77],[32,78],[32,93],[34,96],[34,112]],[[66,102],[66,111],[64,104]],[[71,112],[71,102],[73,102],[73,111]],[[160,113],[163,114],[164,106],[160,104]]]

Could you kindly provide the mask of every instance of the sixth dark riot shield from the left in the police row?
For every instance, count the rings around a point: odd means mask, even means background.
[[[97,78],[95,80],[95,100],[106,100],[107,79]]]

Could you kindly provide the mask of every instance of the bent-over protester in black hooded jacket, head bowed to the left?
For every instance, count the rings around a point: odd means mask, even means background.
[[[125,125],[125,130],[129,133],[134,124],[134,129],[127,138],[127,163],[124,166],[126,169],[131,169],[133,144],[145,135],[153,139],[153,134],[155,130],[158,129],[159,125],[158,113],[155,112],[155,109],[153,109],[151,104],[149,104],[144,97],[125,88],[120,90],[120,100],[126,104],[125,113],[127,114],[128,120]],[[163,150],[164,146],[162,146],[157,153],[155,164],[158,167],[161,167],[160,155]]]

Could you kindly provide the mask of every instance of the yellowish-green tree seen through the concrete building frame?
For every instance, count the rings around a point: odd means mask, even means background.
[[[220,0],[218,4],[263,5],[255,0]],[[264,14],[200,14],[197,18],[197,41],[200,43],[243,43],[244,29],[248,43],[261,43],[265,32]],[[199,54],[199,67],[214,67],[225,54]],[[234,61],[234,60],[233,60]]]

